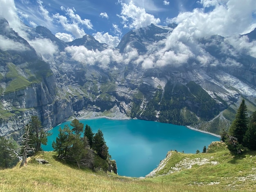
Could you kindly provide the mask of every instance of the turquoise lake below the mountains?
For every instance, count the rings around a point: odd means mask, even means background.
[[[184,126],[143,120],[111,120],[107,118],[79,120],[88,124],[96,133],[101,129],[109,147],[109,154],[117,161],[117,172],[121,176],[146,176],[157,167],[170,150],[195,153],[220,138],[191,130]],[[43,150],[52,151],[52,142],[58,136],[58,128],[71,121],[54,127],[49,132],[47,145]]]

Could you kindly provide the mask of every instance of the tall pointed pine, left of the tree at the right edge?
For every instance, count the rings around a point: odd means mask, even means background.
[[[229,134],[237,138],[238,143],[243,143],[243,137],[247,131],[247,106],[245,100],[242,100],[241,105],[236,113],[236,118],[229,128]]]

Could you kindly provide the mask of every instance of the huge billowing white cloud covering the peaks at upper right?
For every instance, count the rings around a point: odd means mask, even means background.
[[[148,45],[148,54],[138,56],[134,63],[140,63],[144,69],[165,65],[179,67],[193,59],[201,66],[240,67],[242,64],[232,57],[245,52],[256,56],[256,42],[249,42],[246,36],[234,36],[256,23],[252,16],[256,10],[256,1],[201,0],[200,3],[203,9],[183,12],[168,20],[169,23],[178,23],[178,26],[165,40]],[[212,35],[231,37],[224,38],[223,42],[218,36],[216,39],[212,38]],[[210,38],[211,41],[202,44],[201,38]],[[231,58],[215,58],[206,51],[211,45],[217,46],[222,53]]]

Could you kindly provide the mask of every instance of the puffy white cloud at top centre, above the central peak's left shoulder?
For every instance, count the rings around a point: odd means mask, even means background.
[[[144,8],[140,8],[133,4],[131,0],[129,4],[121,2],[122,10],[118,15],[123,21],[124,28],[138,29],[140,27],[146,27],[151,23],[159,23],[160,19],[155,16],[146,13]]]

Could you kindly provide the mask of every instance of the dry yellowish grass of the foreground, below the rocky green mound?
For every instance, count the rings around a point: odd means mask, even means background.
[[[40,165],[35,158],[43,158],[50,165]],[[159,176],[139,179],[112,173],[79,170],[56,160],[54,152],[42,152],[29,159],[27,167],[0,170],[0,191],[3,192],[219,192],[228,191],[218,185],[198,186],[177,182],[178,178]],[[189,174],[193,174],[190,172]],[[198,172],[197,172],[198,174]],[[177,174],[177,176],[181,176]],[[203,175],[203,172],[202,172]],[[191,176],[192,177],[192,176]],[[190,178],[186,176],[184,178]],[[182,178],[180,178],[182,180]],[[249,187],[249,185],[248,185]],[[247,188],[249,189],[249,188]],[[241,189],[240,189],[241,190]]]

